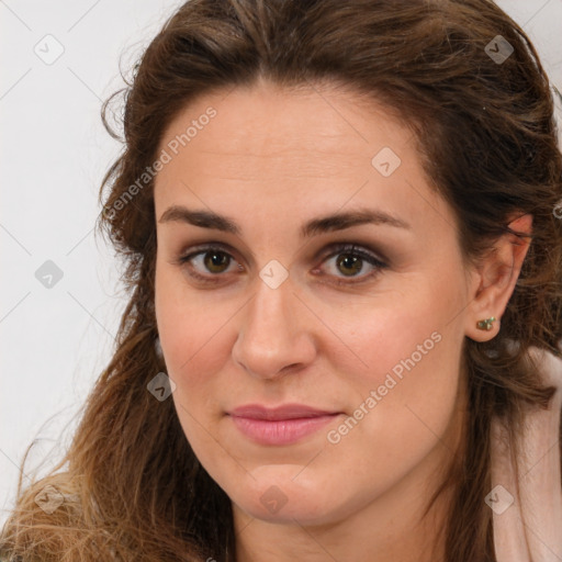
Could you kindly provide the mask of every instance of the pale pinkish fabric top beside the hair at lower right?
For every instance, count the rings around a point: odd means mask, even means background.
[[[492,424],[492,491],[485,502],[493,509],[497,562],[562,562],[562,484],[560,415],[562,360],[537,348],[544,383],[558,386],[548,411],[529,411],[520,437],[520,496],[515,487],[505,426]]]

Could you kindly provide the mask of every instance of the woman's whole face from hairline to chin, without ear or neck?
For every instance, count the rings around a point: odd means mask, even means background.
[[[190,104],[162,149],[156,314],[202,465],[269,521],[416,510],[454,450],[472,318],[412,132],[349,93],[260,83]]]

